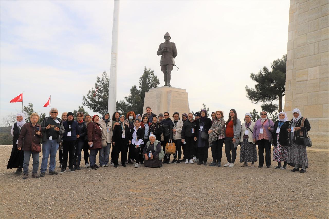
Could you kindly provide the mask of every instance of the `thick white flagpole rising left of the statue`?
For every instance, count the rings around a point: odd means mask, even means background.
[[[112,26],[112,47],[111,47],[111,66],[110,66],[110,86],[109,86],[109,104],[110,115],[116,111],[116,80],[117,80],[117,61],[118,61],[118,32],[119,32],[119,0],[114,0],[113,26]]]

